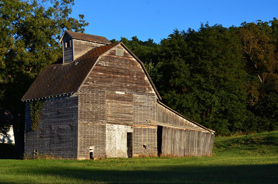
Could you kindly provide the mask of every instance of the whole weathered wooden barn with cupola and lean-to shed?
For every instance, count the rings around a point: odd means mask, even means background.
[[[161,102],[143,63],[123,44],[65,31],[63,61],[23,96],[25,157],[210,156],[214,131]],[[31,131],[30,102],[43,100]]]

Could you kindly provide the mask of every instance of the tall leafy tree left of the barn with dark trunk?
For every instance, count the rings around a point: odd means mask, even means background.
[[[24,103],[20,101],[40,71],[61,57],[65,30],[83,32],[84,16],[70,17],[74,0],[0,1],[0,102],[13,116],[17,156],[23,151]]]

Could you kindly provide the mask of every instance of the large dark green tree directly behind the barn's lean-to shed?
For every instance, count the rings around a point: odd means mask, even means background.
[[[162,40],[157,82],[166,104],[218,134],[241,130],[246,72],[238,45],[229,29],[208,23]]]

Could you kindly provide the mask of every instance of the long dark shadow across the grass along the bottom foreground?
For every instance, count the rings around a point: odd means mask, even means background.
[[[132,170],[135,169],[135,170]],[[56,175],[84,182],[110,183],[277,183],[278,164],[241,166],[167,166],[117,170],[57,166],[28,169],[30,174]]]

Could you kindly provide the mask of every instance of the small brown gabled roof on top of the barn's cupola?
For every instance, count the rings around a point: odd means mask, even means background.
[[[78,32],[69,31],[69,30],[66,30],[65,33],[69,34],[73,39],[77,39],[77,40],[91,41],[91,42],[96,42],[96,43],[100,43],[100,44],[112,44],[109,40],[107,40],[107,38],[105,38],[103,36],[89,35],[86,33],[78,33]],[[59,40],[60,43],[61,43],[65,33],[60,38],[60,40]]]

